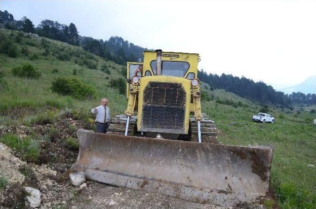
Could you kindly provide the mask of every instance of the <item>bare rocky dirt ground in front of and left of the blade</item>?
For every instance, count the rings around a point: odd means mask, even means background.
[[[41,139],[40,158],[36,162],[21,160],[20,153],[0,143],[0,176],[8,182],[4,189],[0,189],[0,208],[31,208],[29,199],[33,196],[26,192],[25,187],[32,187],[40,191],[39,208],[42,209],[223,209],[93,181],[73,186],[69,174],[77,159],[78,147],[69,147],[64,140],[69,137],[76,139],[76,130],[83,127],[82,121],[70,117],[63,117],[54,124],[0,127],[0,136],[13,133],[21,138],[31,135]],[[241,204],[237,208],[263,207]]]

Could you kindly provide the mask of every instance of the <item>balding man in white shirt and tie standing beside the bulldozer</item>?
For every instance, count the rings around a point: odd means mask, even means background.
[[[110,123],[110,108],[107,106],[109,103],[108,99],[102,99],[101,105],[91,109],[92,113],[96,113],[95,118],[96,132],[107,133]]]

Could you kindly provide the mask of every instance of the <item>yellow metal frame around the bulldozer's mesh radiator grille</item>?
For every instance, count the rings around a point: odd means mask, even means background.
[[[138,113],[137,113],[137,130],[141,128],[141,116],[143,111],[143,97],[144,90],[147,84],[151,81],[165,82],[165,83],[181,83],[184,91],[186,92],[186,111],[185,111],[185,133],[188,134],[189,130],[189,117],[190,117],[190,100],[191,100],[191,82],[186,78],[173,77],[173,76],[145,76],[140,80],[140,89],[138,95]]]

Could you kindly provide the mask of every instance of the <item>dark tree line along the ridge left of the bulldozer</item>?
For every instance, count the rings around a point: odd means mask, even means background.
[[[57,21],[46,19],[42,20],[40,24],[35,27],[33,22],[27,17],[23,17],[21,20],[14,20],[13,15],[6,10],[0,11],[0,28],[21,30],[26,33],[34,33],[43,37],[81,46],[88,52],[121,65],[125,65],[127,61],[137,62],[141,59],[144,50],[148,50],[147,48],[134,45],[119,36],[112,36],[109,40],[80,36],[74,23],[65,25]]]

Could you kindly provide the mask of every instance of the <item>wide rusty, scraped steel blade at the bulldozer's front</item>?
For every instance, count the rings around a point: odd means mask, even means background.
[[[232,207],[268,198],[273,149],[77,131],[88,179]]]

